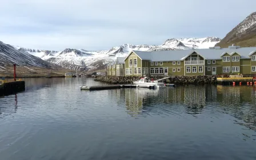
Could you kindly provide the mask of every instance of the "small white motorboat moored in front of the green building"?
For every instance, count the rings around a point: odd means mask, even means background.
[[[133,83],[134,83],[134,85],[136,85],[138,87],[154,87],[154,88],[166,87],[165,83],[159,82],[158,80],[150,81],[150,79],[147,77],[143,77],[143,78],[139,79],[139,81],[135,81]]]

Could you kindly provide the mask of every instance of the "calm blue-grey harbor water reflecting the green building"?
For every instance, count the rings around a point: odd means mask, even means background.
[[[27,78],[0,97],[0,159],[256,159],[256,88],[81,91]]]

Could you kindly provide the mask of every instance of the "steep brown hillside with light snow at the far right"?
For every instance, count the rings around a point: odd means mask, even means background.
[[[241,47],[256,46],[256,12],[247,16],[215,46],[227,47],[232,44]]]

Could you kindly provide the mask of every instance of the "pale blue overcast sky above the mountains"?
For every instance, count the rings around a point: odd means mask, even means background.
[[[223,38],[255,6],[255,0],[8,0],[1,1],[0,41],[61,51]]]

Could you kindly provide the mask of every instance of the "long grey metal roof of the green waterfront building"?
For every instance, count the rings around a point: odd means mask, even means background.
[[[163,50],[163,51],[133,51],[142,60],[149,61],[182,61],[188,55],[196,52],[205,59],[222,59],[223,54],[233,55],[237,53],[241,58],[250,58],[250,54],[256,52],[256,47],[242,47],[237,49],[190,49],[190,50]],[[130,55],[130,54],[129,54]]]

